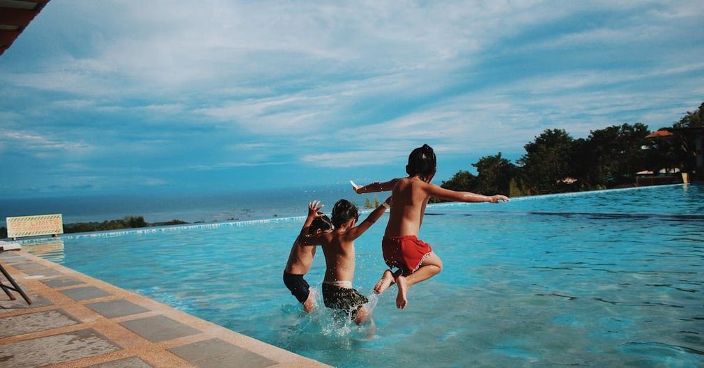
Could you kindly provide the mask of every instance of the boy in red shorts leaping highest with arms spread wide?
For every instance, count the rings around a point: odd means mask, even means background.
[[[396,283],[396,307],[400,309],[408,305],[406,293],[411,285],[425,281],[442,270],[440,258],[429,244],[417,238],[430,197],[458,202],[508,201],[508,197],[500,194],[482,196],[467,191],[451,191],[432,184],[436,172],[436,158],[433,148],[427,144],[415,148],[410,153],[406,172],[408,177],[391,179],[389,182],[375,182],[365,186],[352,182],[357,193],[392,191],[391,199],[394,205],[389,212],[389,223],[386,224],[382,239],[382,252],[386,265],[398,270],[391,272],[391,269],[386,269],[374,286],[374,292],[383,293],[391,284]]]

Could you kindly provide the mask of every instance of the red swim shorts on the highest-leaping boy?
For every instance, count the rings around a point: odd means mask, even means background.
[[[415,272],[432,251],[428,243],[418,240],[415,235],[384,236],[382,239],[384,262],[391,268]]]

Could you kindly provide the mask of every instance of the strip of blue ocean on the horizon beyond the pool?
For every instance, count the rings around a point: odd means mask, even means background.
[[[8,216],[63,214],[63,223],[102,222],[125,216],[144,216],[146,222],[183,220],[186,222],[225,222],[260,220],[272,217],[306,215],[313,200],[325,204],[329,215],[340,198],[363,209],[365,198],[373,202],[384,193],[359,195],[347,185],[327,185],[288,189],[232,190],[210,193],[149,193],[47,198],[0,198],[0,226]]]

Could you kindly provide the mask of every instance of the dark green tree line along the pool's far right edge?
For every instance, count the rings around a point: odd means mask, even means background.
[[[704,103],[684,113],[671,127],[658,130],[703,126]],[[532,196],[630,185],[635,182],[635,173],[642,170],[693,170],[693,139],[681,134],[646,139],[648,134],[648,126],[641,123],[596,129],[586,139],[574,139],[564,129],[546,129],[524,146],[526,153],[516,163],[503,158],[501,152],[484,156],[472,164],[477,175],[460,170],[441,186],[455,191]]]

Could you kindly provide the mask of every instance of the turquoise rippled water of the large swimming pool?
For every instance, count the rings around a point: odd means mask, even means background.
[[[338,367],[704,364],[704,186],[427,212],[420,237],[444,272],[406,310],[384,293],[374,336],[325,308],[304,315],[283,286],[302,218],[63,236],[39,255]],[[385,219],[356,242],[366,295],[386,268]],[[319,253],[306,277],[318,289],[324,267]]]

